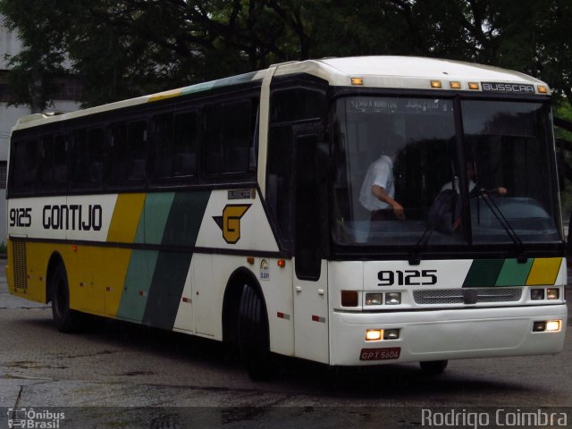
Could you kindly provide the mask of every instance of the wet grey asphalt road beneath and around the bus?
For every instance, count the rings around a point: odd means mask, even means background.
[[[51,308],[10,296],[0,274],[0,429],[8,408],[62,428],[435,427],[423,413],[451,409],[495,427],[499,409],[541,408],[572,427],[569,321],[554,356],[450,361],[439,377],[416,365],[334,371],[284,359],[274,381],[254,383],[213,341],[103,319],[57,332]],[[469,420],[460,423],[475,427]]]

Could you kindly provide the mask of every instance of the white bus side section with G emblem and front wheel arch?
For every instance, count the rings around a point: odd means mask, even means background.
[[[222,338],[224,287],[232,273],[245,267],[253,273],[264,294],[271,350],[293,356],[293,268],[290,261],[283,267],[277,264],[279,248],[257,191],[214,190],[200,226],[197,247],[205,252],[195,254],[191,264],[197,332]],[[214,253],[206,253],[211,251]],[[253,257],[254,263],[248,263],[247,257]]]

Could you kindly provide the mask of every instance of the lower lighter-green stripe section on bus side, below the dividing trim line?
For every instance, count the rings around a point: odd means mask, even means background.
[[[151,288],[151,273],[155,272],[157,257],[156,251],[132,251],[117,317],[139,323],[143,320]]]

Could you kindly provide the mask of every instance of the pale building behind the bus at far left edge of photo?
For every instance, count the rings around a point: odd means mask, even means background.
[[[30,106],[10,105],[10,86],[8,84],[7,56],[17,55],[21,51],[21,41],[16,32],[4,25],[0,15],[0,243],[6,243],[6,177],[8,144],[10,131],[18,118],[32,113]],[[50,102],[50,111],[72,112],[80,108],[80,81],[72,76],[63,76],[55,99]]]

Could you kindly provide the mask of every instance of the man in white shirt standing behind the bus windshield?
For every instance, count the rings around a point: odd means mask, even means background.
[[[399,143],[396,144],[393,156],[382,155],[369,166],[359,191],[359,202],[371,212],[372,221],[405,219],[403,206],[393,199],[393,163],[403,148],[397,145]]]

